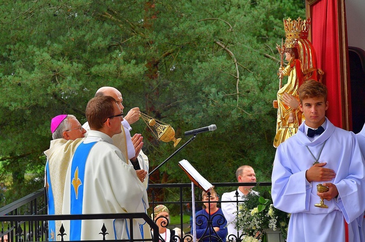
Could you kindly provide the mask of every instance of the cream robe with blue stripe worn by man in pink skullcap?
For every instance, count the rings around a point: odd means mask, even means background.
[[[55,139],[51,141],[50,148],[44,151],[47,157],[45,167],[45,188],[48,199],[48,214],[62,214],[63,190],[65,189],[66,171],[76,150],[84,140]],[[48,236],[50,241],[56,240],[61,221],[49,221]],[[60,239],[58,237],[58,239]]]

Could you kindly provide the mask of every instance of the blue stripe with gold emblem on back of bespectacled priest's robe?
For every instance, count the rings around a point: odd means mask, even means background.
[[[71,214],[82,214],[84,198],[85,165],[90,150],[97,142],[84,144],[82,142],[76,149],[71,165]],[[81,240],[81,220],[70,221],[70,241]]]

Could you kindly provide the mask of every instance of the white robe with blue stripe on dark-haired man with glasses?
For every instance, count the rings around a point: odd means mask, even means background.
[[[67,170],[63,214],[146,212],[146,189],[122,152],[105,133],[90,130]],[[62,221],[64,240],[130,239],[128,220]],[[144,220],[133,220],[134,239],[143,238]],[[70,229],[71,228],[71,229]],[[149,235],[150,236],[150,235]]]

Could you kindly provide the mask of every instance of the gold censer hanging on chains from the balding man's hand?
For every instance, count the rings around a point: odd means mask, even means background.
[[[147,127],[152,131],[157,140],[161,140],[163,142],[174,142],[174,147],[179,144],[181,138],[175,138],[175,130],[169,124],[165,124],[164,122],[157,120],[148,116],[145,113],[140,113],[140,117],[146,123]],[[152,128],[154,128],[154,130]]]

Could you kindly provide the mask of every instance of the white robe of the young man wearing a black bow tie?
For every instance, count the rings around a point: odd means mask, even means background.
[[[292,213],[287,242],[360,241],[359,226],[365,209],[364,160],[355,135],[326,120],[325,131],[312,142],[303,132],[303,123],[276,150],[272,197],[275,208]],[[306,145],[318,158],[326,140],[318,161],[327,162],[325,167],[334,170],[336,177],[330,181],[308,182],[306,170],[314,159]],[[336,185],[338,197],[324,201],[328,209],[314,207],[320,202],[316,186],[325,182]]]

